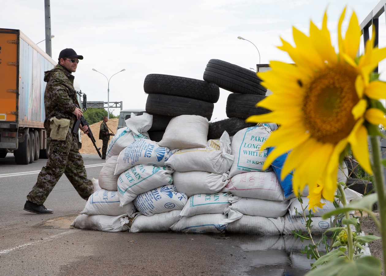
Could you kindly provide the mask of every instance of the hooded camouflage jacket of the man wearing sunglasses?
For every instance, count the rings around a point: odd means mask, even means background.
[[[75,110],[75,104],[79,106],[73,85],[74,76],[58,64],[52,70],[44,72],[44,81],[47,82],[44,92],[44,127],[49,129],[49,119],[52,117],[70,119],[73,125],[76,118],[72,112]]]

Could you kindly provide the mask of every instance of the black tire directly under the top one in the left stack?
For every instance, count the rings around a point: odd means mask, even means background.
[[[163,95],[147,95],[146,111],[166,116],[199,115],[210,120],[214,104],[196,99]]]

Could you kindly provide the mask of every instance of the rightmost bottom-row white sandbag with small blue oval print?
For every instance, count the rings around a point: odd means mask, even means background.
[[[331,221],[333,221],[334,218],[335,217],[332,216]],[[312,217],[311,233],[317,235],[323,234],[327,229],[331,228],[331,221],[330,218],[323,220],[320,216]],[[291,216],[288,212],[284,216],[283,235],[292,235],[293,230],[296,232],[301,230],[301,233],[308,233],[306,228],[306,221],[304,218],[302,216]]]

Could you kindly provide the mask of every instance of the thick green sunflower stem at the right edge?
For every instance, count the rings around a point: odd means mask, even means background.
[[[384,189],[383,166],[381,164],[381,148],[379,146],[379,136],[370,136],[372,148],[372,171],[374,174],[374,182],[376,193],[378,195],[379,218],[381,220],[382,252],[383,252],[383,270],[386,267],[386,196]]]

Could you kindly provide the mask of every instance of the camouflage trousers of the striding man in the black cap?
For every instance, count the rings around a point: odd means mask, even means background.
[[[36,204],[43,204],[64,173],[81,198],[87,200],[93,193],[93,184],[87,179],[76,137],[69,131],[65,141],[52,141],[48,138],[48,143],[51,148],[46,167],[39,173],[27,199]]]

